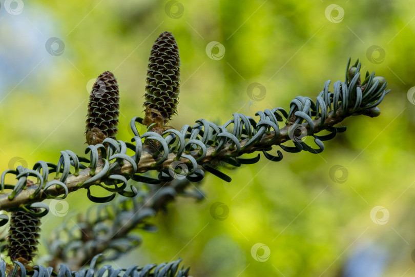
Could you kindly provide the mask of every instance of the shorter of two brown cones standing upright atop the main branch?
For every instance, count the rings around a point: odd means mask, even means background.
[[[106,137],[117,134],[119,90],[117,80],[110,71],[98,76],[89,96],[87,115],[87,143],[96,145]]]

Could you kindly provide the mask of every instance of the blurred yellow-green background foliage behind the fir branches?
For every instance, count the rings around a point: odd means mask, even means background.
[[[344,80],[349,56],[360,58],[363,74],[376,71],[388,81],[381,116],[347,118],[347,131],[319,155],[262,158],[225,170],[231,183],[206,176],[204,201],[179,198],[154,219],[159,231],[140,232],[142,246],[114,266],[180,257],[194,276],[415,274],[415,1],[1,4],[2,171],[56,163],[60,150],[82,154],[87,87],[106,70],[120,87],[117,138],[128,141],[130,119],[143,116],[151,46],[166,30],[177,39],[182,65],[178,115],[170,124],[176,128],[199,118],[224,123],[234,112],[288,109],[297,95],[315,100],[326,80]],[[211,42],[215,47],[206,49]],[[263,87],[249,93],[252,83]],[[84,190],[67,201],[76,211],[91,205]],[[229,208],[224,220],[210,213],[216,202]],[[41,235],[63,219],[49,214]]]

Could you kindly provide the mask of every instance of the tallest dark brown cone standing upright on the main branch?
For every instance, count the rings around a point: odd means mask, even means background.
[[[163,129],[176,113],[180,88],[179,48],[172,33],[161,33],[150,52],[143,124]],[[161,130],[160,130],[161,131]]]

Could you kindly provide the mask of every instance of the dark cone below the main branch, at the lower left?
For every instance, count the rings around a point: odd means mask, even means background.
[[[33,182],[28,180],[28,187]],[[39,212],[33,208],[33,212]],[[30,263],[37,250],[40,219],[27,211],[13,211],[10,215],[10,228],[7,252],[12,261]]]

